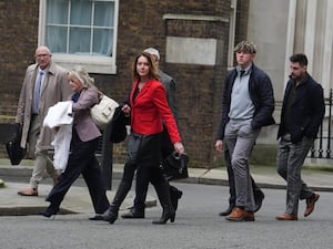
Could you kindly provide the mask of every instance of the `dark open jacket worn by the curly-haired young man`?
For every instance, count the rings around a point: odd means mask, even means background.
[[[224,138],[225,125],[229,122],[229,112],[231,104],[231,93],[235,77],[238,76],[236,69],[228,72],[223,85],[222,95],[222,118],[218,129],[216,139]],[[253,120],[251,126],[253,129],[261,128],[262,126],[274,124],[274,94],[271,79],[269,75],[252,64],[251,74],[249,80],[249,92],[252,103],[254,105]]]

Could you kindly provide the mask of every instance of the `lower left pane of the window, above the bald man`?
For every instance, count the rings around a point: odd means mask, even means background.
[[[67,28],[49,27],[47,29],[47,45],[52,52],[67,52]]]

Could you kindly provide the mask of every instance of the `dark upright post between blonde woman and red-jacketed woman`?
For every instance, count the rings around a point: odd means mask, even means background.
[[[112,162],[113,162],[113,143],[110,141],[112,122],[110,122],[103,131],[102,139],[102,170],[107,190],[112,188]]]

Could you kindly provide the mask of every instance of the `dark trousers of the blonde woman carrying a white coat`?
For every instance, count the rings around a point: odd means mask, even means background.
[[[103,214],[109,207],[101,167],[94,156],[99,139],[82,142],[73,129],[72,151],[65,170],[59,183],[52,188],[47,201],[59,207],[71,185],[82,174],[97,214]]]

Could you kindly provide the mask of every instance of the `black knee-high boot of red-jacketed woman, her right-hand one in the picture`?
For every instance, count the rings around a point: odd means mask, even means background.
[[[170,197],[170,189],[169,185],[165,181],[159,183],[158,185],[154,185],[155,191],[158,194],[159,200],[161,203],[161,206],[163,208],[162,216],[159,220],[154,220],[153,224],[163,225],[167,224],[167,221],[170,219],[171,222],[174,221],[174,209],[172,207],[171,197]]]

